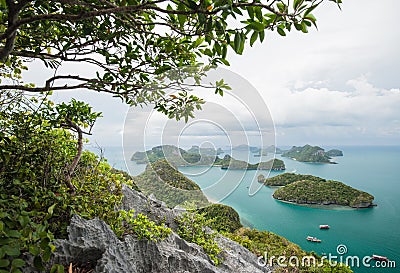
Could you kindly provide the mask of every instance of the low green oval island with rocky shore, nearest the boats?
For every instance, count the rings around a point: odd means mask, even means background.
[[[313,175],[285,173],[264,182],[267,186],[283,186],[273,197],[280,201],[303,205],[339,205],[369,208],[374,196],[354,189],[342,182],[325,180]]]

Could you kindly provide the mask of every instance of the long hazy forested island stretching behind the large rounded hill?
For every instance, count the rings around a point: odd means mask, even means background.
[[[248,149],[248,146],[239,146],[240,149]],[[184,150],[173,145],[162,145],[153,147],[151,150],[145,152],[135,152],[131,161],[138,164],[154,163],[161,159],[166,159],[176,167],[186,166],[217,166],[221,169],[227,170],[285,170],[285,163],[280,159],[271,159],[266,162],[259,162],[251,164],[243,160],[237,160],[230,155],[225,155],[220,158],[218,154],[222,152],[221,149],[214,150],[211,148],[199,148],[192,146],[189,150]]]

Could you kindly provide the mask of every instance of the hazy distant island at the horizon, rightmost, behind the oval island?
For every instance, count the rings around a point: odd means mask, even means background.
[[[343,155],[343,152],[337,149],[325,152],[325,150],[319,146],[304,145],[303,147],[293,146],[290,150],[282,154],[283,157],[290,157],[300,162],[311,162],[311,163],[330,163],[337,164],[331,161],[332,156]]]

